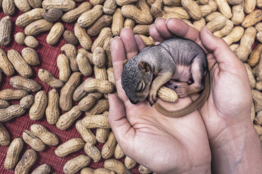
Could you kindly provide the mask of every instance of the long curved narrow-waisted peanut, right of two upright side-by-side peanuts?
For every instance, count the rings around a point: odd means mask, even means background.
[[[81,73],[73,73],[69,80],[65,83],[60,92],[59,106],[62,110],[68,111],[73,106],[72,96],[80,83]]]

